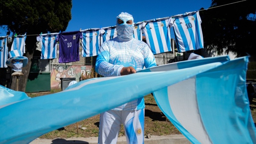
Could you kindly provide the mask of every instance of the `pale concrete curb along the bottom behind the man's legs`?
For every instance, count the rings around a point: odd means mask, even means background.
[[[98,137],[91,138],[57,138],[53,140],[49,139],[35,139],[29,144],[97,144]],[[144,138],[145,144],[191,144],[191,142],[184,135],[165,135],[165,136],[154,136],[152,135],[150,139]],[[117,139],[117,144],[126,144],[125,136],[119,137]]]

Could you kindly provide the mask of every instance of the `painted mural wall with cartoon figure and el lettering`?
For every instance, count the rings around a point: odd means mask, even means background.
[[[81,77],[91,72],[92,66],[79,65],[53,65],[51,73],[51,89],[61,88],[60,78],[76,78],[81,81]]]

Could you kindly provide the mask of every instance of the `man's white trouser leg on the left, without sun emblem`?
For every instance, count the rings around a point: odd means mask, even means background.
[[[100,114],[98,144],[116,144],[121,129],[122,111],[108,110]]]

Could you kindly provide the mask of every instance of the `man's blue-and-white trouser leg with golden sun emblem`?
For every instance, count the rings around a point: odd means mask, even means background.
[[[145,109],[125,110],[122,112],[122,120],[127,143],[143,144]]]

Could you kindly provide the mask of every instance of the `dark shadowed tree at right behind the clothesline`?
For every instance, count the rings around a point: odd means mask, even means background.
[[[250,61],[255,61],[256,7],[253,0],[240,1],[212,0],[208,10],[201,9],[204,49],[237,57],[249,54]]]

